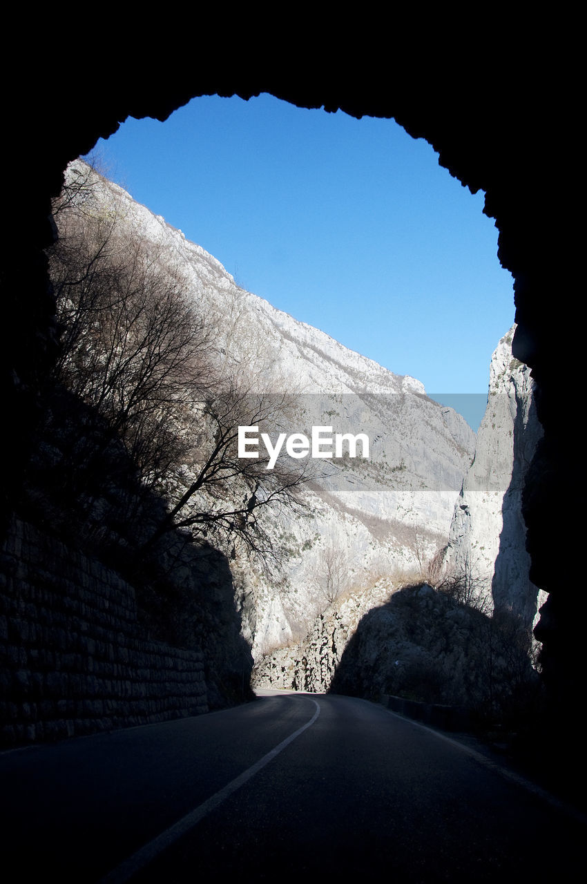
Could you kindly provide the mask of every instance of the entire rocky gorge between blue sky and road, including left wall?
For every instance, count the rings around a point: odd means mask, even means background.
[[[514,329],[476,435],[81,161],[54,210],[61,350],[4,550],[4,743],[221,708],[251,674],[485,722],[536,704],[541,428]],[[316,426],[370,456],[240,457],[238,427]]]

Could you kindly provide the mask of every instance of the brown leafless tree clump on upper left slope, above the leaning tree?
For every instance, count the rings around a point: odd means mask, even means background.
[[[76,213],[71,232],[73,212],[50,255],[56,377],[123,439],[155,487],[186,446],[182,415],[210,384],[210,331],[154,248],[115,217]]]

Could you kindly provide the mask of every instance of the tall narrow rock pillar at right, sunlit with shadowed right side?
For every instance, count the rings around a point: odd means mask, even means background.
[[[487,408],[454,507],[446,565],[469,581],[486,610],[511,611],[530,628],[538,590],[529,577],[522,487],[542,427],[530,369],[512,355],[514,331],[492,355]]]

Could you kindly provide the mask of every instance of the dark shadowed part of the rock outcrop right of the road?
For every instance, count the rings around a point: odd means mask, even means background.
[[[395,592],[362,618],[331,682],[334,693],[466,706],[504,721],[537,697],[530,636],[427,584]]]

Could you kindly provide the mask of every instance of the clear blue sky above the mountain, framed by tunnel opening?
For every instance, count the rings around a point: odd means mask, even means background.
[[[393,120],[213,96],[96,150],[240,286],[427,392],[486,395],[514,321],[497,230],[484,194]]]

